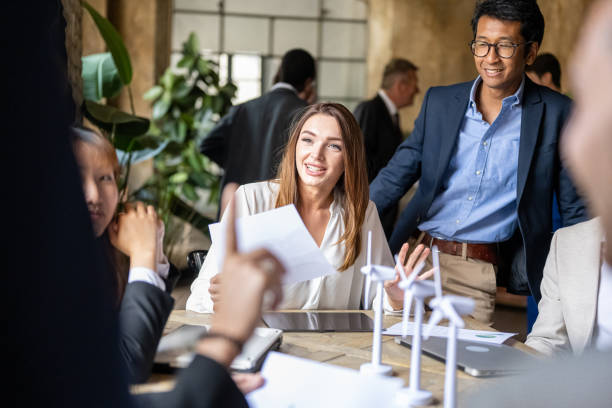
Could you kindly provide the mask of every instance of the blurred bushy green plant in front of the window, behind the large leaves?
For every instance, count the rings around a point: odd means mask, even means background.
[[[153,176],[135,195],[155,203],[167,226],[174,215],[208,234],[212,220],[202,216],[195,204],[203,198],[218,202],[219,171],[198,146],[228,111],[235,93],[233,83],[221,85],[218,65],[200,54],[198,39],[191,33],[177,67],[168,68],[144,95],[153,108],[149,134],[165,146],[153,159]]]

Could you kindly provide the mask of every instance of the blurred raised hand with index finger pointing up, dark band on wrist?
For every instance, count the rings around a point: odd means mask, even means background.
[[[282,300],[282,264],[267,250],[239,253],[236,242],[234,202],[227,208],[227,237],[223,270],[217,280],[219,299],[215,302],[211,332],[246,342],[260,322],[266,291],[275,295],[273,307]],[[238,354],[236,347],[222,337],[202,339],[198,352],[229,365]]]

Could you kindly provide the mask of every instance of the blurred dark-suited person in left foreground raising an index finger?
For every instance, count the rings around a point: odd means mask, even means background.
[[[38,98],[34,104],[22,105],[25,97],[16,100],[12,111],[15,123],[31,136],[28,142],[39,144],[32,166],[32,179],[38,182],[20,184],[40,200],[37,211],[26,217],[38,217],[36,226],[23,228],[23,235],[18,231],[16,240],[31,267],[9,277],[16,282],[10,285],[15,290],[9,308],[15,313],[9,313],[8,349],[16,364],[8,400],[45,407],[246,407],[227,368],[260,321],[264,292],[280,293],[283,269],[266,251],[238,253],[231,241],[225,265],[232,279],[222,290],[236,302],[220,308],[213,335],[199,342],[199,353],[172,391],[130,395],[119,352],[116,291],[108,279],[107,258],[94,241],[69,138],[74,105],[66,79],[62,4],[44,2],[40,11],[44,35],[37,37],[40,54],[34,58],[45,69],[22,70],[33,79],[22,84],[33,88],[27,94]],[[26,230],[28,241],[21,240]],[[23,245],[30,241],[33,245]]]

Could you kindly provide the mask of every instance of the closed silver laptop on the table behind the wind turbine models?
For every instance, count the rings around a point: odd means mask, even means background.
[[[397,344],[411,347],[412,336],[395,338]],[[423,353],[440,361],[446,360],[446,338],[430,337],[421,342]],[[474,377],[511,375],[533,369],[538,360],[505,344],[457,340],[457,368]]]

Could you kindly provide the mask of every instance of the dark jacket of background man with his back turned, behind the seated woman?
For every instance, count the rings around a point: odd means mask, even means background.
[[[232,107],[200,145],[225,170],[222,187],[274,178],[291,121],[306,106],[295,92],[279,88]]]

